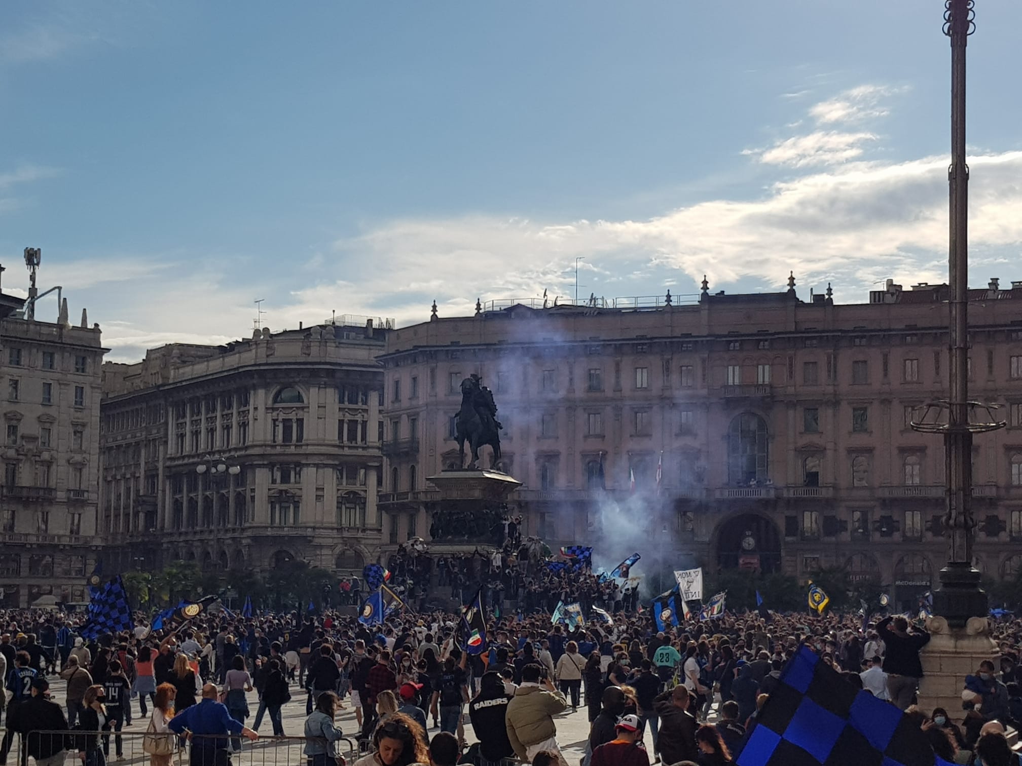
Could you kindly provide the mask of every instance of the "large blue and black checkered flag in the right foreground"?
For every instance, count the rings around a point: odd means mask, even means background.
[[[802,647],[781,674],[738,766],[950,766],[919,724],[856,689]]]

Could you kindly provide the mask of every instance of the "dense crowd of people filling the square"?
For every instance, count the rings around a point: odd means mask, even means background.
[[[546,600],[522,614],[491,612],[479,654],[465,651],[460,615],[450,612],[404,610],[374,626],[332,611],[205,613],[164,630],[140,619],[133,632],[94,641],[77,636],[78,616],[0,614],[8,692],[0,762],[20,734],[38,763],[62,763],[73,747],[86,766],[103,766],[111,750],[122,755],[124,729],[137,725],[154,735],[147,739],[154,766],[171,763],[178,733],[193,735],[192,763],[222,766],[261,730],[308,737],[313,766],[335,763],[344,736],[365,753],[357,766],[566,764],[558,722],[585,715],[588,766],[727,766],[785,664],[805,645],[845,682],[905,711],[936,755],[1016,763],[1004,732],[1022,724],[1020,621],[995,624],[1001,656],[968,676],[961,710],[924,710],[917,690],[929,635],[904,617],[726,613],[657,631],[648,613],[615,609],[610,624],[569,629],[552,624],[544,607],[601,603],[602,583],[578,573],[541,577]],[[63,709],[48,699],[56,675],[66,681]],[[301,705],[304,728],[285,731],[282,709]],[[357,728],[342,732],[344,707]],[[93,733],[61,739],[57,750],[29,736],[76,724]]]

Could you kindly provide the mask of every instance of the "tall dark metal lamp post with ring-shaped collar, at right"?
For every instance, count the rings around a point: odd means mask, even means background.
[[[969,165],[965,153],[965,51],[975,31],[974,0],[945,0],[944,34],[951,43],[951,163],[948,248],[948,398],[928,404],[912,427],[939,433],[944,439],[947,509],[943,517],[947,563],[933,593],[933,612],[951,627],[970,617],[985,617],[986,593],[973,567],[976,520],[972,515],[972,436],[1005,426],[993,420],[990,406],[969,400]],[[980,413],[985,416],[977,419]]]

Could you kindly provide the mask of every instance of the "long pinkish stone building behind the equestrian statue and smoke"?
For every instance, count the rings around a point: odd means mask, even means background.
[[[945,393],[946,288],[888,283],[837,304],[790,284],[434,310],[390,333],[384,547],[427,535],[427,478],[457,466],[459,384],[478,373],[527,533],[592,541],[616,504],[665,561],[802,578],[845,566],[914,606],[944,556],[942,443],[910,423]],[[1022,568],[1022,282],[971,294],[973,396],[1008,421],[974,457],[976,564],[997,577]]]

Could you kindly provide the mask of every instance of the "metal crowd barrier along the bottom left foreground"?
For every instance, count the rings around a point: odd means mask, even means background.
[[[148,766],[150,756],[142,749],[142,740],[145,737],[144,731],[125,731],[120,734],[112,731],[30,731],[25,736],[19,736],[11,747],[10,755],[14,756],[14,763],[18,766],[32,766],[36,759],[29,753],[53,753],[62,750],[63,760],[59,761],[60,766],[82,766],[80,757],[82,749],[86,748],[88,740],[98,737],[94,741],[102,750],[108,766]],[[318,741],[326,745],[326,739],[310,738],[305,736],[260,736],[256,741],[249,741],[243,736],[232,735],[212,735],[195,734],[190,737],[191,741],[177,734],[170,734],[175,743],[175,753],[171,758],[171,763],[175,766],[306,766],[310,763],[310,756],[306,755],[306,744]],[[119,747],[118,740],[121,740]],[[215,760],[199,758],[193,760],[191,756],[192,746],[200,743],[207,743],[210,748],[200,748],[203,752],[213,753],[217,749],[226,748],[229,760]],[[236,748],[240,745],[240,750]],[[338,755],[343,755],[347,763],[352,764],[358,758],[358,743],[352,737],[343,737],[334,743],[334,749]],[[123,759],[118,758],[119,751]],[[157,757],[158,758],[158,757]],[[221,759],[223,756],[220,757]],[[328,763],[332,763],[327,761]],[[47,764],[51,763],[46,761]],[[88,763],[88,761],[87,761]],[[162,762],[160,762],[162,763]],[[55,766],[55,763],[54,763]],[[90,764],[91,766],[91,764]]]

